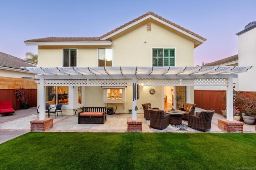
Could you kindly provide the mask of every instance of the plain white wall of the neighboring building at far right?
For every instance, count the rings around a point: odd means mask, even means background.
[[[238,36],[239,66],[254,66],[247,72],[238,74],[239,90],[256,91],[256,28]]]

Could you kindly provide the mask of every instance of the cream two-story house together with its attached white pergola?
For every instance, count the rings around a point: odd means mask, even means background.
[[[136,113],[143,113],[140,106],[148,102],[161,109],[165,103],[178,107],[194,103],[196,85],[230,86],[228,79],[247,69],[194,67],[194,48],[204,41],[148,12],[100,37],[25,43],[38,46],[39,67],[28,68],[38,74],[38,96],[52,105],[62,102],[64,114],[73,114],[81,106],[117,107],[116,113],[135,106]]]

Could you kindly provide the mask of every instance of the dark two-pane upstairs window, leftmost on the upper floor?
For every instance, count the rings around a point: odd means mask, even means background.
[[[76,66],[77,56],[76,56],[77,49],[63,49],[63,66],[70,67]]]

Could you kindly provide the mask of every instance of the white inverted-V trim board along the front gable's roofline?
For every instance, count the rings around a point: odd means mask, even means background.
[[[103,37],[101,40],[109,39],[110,37],[113,37],[114,35],[122,32],[122,31],[124,31],[124,30],[126,30],[126,29],[128,29],[128,28],[130,28],[130,27],[132,27],[132,26],[134,26],[134,25],[144,21],[144,20],[147,20],[148,18],[152,18],[152,19],[154,19],[154,20],[156,20],[156,21],[158,21],[158,22],[160,22],[160,23],[162,23],[162,24],[164,24],[164,25],[166,25],[166,26],[168,26],[168,27],[170,27],[172,29],[175,29],[176,31],[179,31],[179,32],[183,33],[184,35],[187,35],[188,37],[191,37],[191,38],[193,38],[193,39],[195,39],[195,40],[197,40],[197,41],[199,41],[201,43],[204,43],[204,40],[202,40],[202,39],[200,39],[200,38],[198,38],[198,37],[196,37],[196,36],[186,32],[186,31],[184,31],[182,29],[179,29],[178,27],[175,27],[174,25],[171,25],[170,23],[167,23],[167,22],[165,22],[163,20],[160,20],[159,18],[157,18],[157,17],[155,17],[155,16],[153,16],[151,14],[148,15],[148,16],[145,16],[144,18],[141,18],[140,20],[137,20],[137,21],[127,25],[126,27],[123,27],[123,28],[119,29],[118,31],[115,31],[114,33],[112,33],[112,34],[110,34],[110,35],[108,35],[106,37]]]

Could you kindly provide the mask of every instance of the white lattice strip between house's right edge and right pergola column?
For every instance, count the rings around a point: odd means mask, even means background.
[[[227,86],[228,78],[194,79],[194,86]]]

